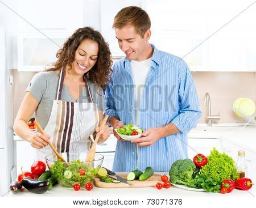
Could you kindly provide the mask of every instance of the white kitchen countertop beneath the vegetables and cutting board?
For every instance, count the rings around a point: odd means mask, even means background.
[[[119,172],[124,173],[124,172]],[[161,175],[168,173],[156,172]],[[171,186],[169,189],[162,188],[161,190],[155,187],[148,188],[120,188],[120,189],[104,189],[93,187],[91,191],[81,189],[79,191],[73,190],[73,188],[64,188],[57,184],[53,186],[51,190],[43,194],[30,193],[27,190],[23,190],[17,194],[9,193],[8,197],[147,197],[147,198],[170,198],[170,197],[252,197],[255,196],[255,187],[252,187],[249,191],[243,191],[234,189],[232,193],[218,194],[208,192],[195,192],[185,189],[180,189],[175,186]]]

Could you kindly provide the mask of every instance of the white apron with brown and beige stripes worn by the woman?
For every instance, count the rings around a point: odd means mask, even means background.
[[[56,100],[53,100],[52,112],[44,131],[50,137],[58,152],[88,152],[92,144],[90,135],[96,131],[99,122],[97,104],[93,103],[89,84],[84,75],[86,95],[89,103],[73,103],[61,100],[65,71],[60,71]],[[36,149],[35,161],[45,161],[47,155],[54,154],[47,145]],[[75,158],[76,159],[76,158]]]

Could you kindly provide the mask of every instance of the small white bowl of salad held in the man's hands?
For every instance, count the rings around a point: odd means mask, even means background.
[[[142,137],[143,129],[135,126],[133,124],[123,125],[122,128],[114,129],[119,137],[125,139],[127,141],[131,141],[133,139],[138,139]]]

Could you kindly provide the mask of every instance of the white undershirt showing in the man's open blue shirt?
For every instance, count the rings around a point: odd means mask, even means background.
[[[131,69],[133,70],[134,85],[135,85],[135,103],[136,103],[136,116],[135,125],[139,126],[141,118],[141,98],[143,95],[144,85],[147,78],[148,71],[151,66],[151,58],[144,61],[131,61]]]

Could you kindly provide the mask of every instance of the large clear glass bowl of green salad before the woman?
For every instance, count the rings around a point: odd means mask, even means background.
[[[46,156],[46,163],[60,185],[73,187],[75,184],[80,184],[84,186],[96,177],[104,159],[103,155],[95,154],[92,162],[85,162],[87,154],[85,152],[62,153],[61,156],[67,162],[62,162],[55,154],[52,154]]]

